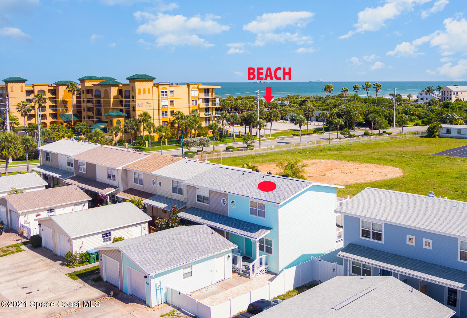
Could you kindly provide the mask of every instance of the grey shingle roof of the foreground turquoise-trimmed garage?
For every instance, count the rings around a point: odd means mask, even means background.
[[[197,225],[178,226],[95,248],[120,249],[151,275],[234,247],[235,244],[209,227]]]

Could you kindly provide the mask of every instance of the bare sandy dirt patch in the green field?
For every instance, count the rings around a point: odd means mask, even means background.
[[[373,163],[357,163],[333,159],[304,160],[309,167],[305,168],[307,179],[330,184],[359,184],[401,177],[402,169]],[[278,172],[276,163],[258,164],[263,173]]]

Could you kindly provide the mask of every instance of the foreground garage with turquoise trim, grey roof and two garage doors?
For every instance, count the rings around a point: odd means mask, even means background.
[[[166,286],[183,293],[232,277],[235,244],[205,225],[179,226],[100,247],[100,276],[146,302],[167,301]]]

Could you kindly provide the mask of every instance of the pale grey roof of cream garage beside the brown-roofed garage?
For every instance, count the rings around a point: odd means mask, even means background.
[[[151,220],[130,202],[103,205],[50,218],[71,238]]]

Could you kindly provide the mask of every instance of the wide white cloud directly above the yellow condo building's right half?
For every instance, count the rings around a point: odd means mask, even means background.
[[[146,21],[136,29],[136,32],[155,36],[158,47],[183,45],[211,47],[214,44],[209,43],[199,35],[219,34],[230,28],[214,21],[220,17],[212,14],[206,14],[204,18],[199,15],[188,18],[181,14],[151,14],[137,11],[134,13],[134,17],[137,21]]]

